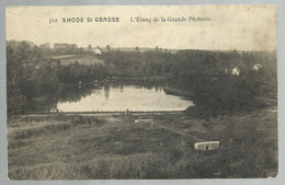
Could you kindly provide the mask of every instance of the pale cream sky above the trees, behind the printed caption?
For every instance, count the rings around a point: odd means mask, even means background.
[[[31,41],[36,45],[276,50],[274,5],[10,7],[5,13],[7,41]],[[87,18],[99,16],[115,16],[119,22],[87,22]],[[130,22],[136,16],[152,22]],[[189,16],[210,21],[189,22]],[[84,22],[62,23],[64,18],[83,18]],[[153,22],[155,18],[159,22]],[[186,21],[161,22],[161,18]],[[49,19],[57,19],[57,23],[49,24]]]

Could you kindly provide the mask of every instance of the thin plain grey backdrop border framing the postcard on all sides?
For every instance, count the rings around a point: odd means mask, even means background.
[[[239,178],[239,180],[122,180],[122,181],[9,181],[7,177],[7,116],[5,116],[5,8],[9,5],[179,5],[179,4],[276,4],[277,5],[277,58],[278,58],[278,142],[280,142],[280,173],[276,178]],[[95,185],[281,185],[284,181],[284,138],[285,132],[284,111],[285,102],[285,51],[284,51],[284,33],[285,33],[285,1],[284,0],[0,0],[0,184],[95,184]]]

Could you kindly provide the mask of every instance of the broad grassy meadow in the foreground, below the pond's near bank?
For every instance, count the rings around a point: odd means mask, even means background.
[[[206,140],[219,149],[194,150]],[[18,116],[8,123],[8,161],[10,180],[276,176],[277,113]]]

